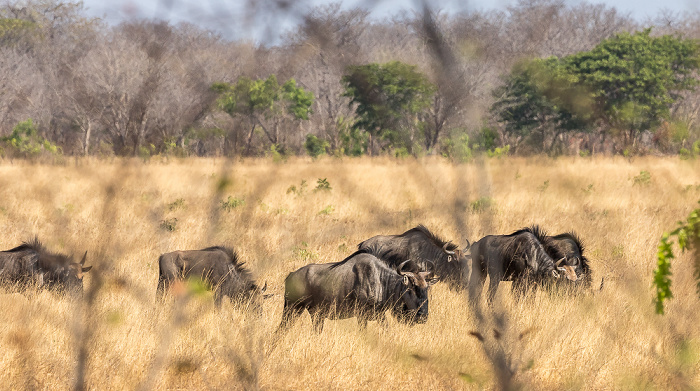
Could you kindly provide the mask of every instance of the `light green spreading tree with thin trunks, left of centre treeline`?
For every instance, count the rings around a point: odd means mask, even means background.
[[[280,85],[275,75],[267,79],[252,80],[241,77],[235,84],[214,83],[219,93],[219,108],[232,117],[246,118],[251,126],[246,142],[246,153],[259,127],[270,143],[284,147],[284,135],[280,127],[285,122],[308,120],[314,101],[312,92],[297,86],[294,79]]]

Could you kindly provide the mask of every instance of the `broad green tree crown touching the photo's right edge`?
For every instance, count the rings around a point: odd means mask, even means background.
[[[587,86],[594,101],[594,119],[634,142],[638,132],[653,129],[670,117],[679,92],[698,85],[700,66],[695,40],[651,29],[621,33],[589,52],[564,59],[564,67]]]

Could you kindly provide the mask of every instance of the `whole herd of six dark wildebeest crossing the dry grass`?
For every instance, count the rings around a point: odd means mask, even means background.
[[[591,268],[575,233],[548,236],[538,226],[509,235],[488,235],[459,249],[419,225],[400,235],[378,235],[358,245],[340,262],[309,264],[291,272],[284,283],[284,310],[278,331],[285,330],[304,312],[313,328],[323,329],[326,318],[357,317],[360,327],[370,320],[384,324],[386,312],[400,322],[428,319],[428,290],[438,281],[452,290],[472,288],[478,300],[489,277],[491,303],[501,281],[512,281],[520,297],[537,287],[589,289]],[[0,252],[0,284],[37,286],[81,292],[87,253],[80,262],[48,251],[37,238]],[[471,262],[470,262],[471,261]],[[221,305],[224,296],[236,303],[261,308],[270,297],[227,247],[174,251],[158,260],[157,296],[163,298],[177,280],[197,278]]]

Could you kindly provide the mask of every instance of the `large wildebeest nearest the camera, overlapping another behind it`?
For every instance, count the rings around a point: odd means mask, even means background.
[[[390,310],[400,321],[415,324],[428,318],[428,288],[432,271],[415,270],[404,261],[398,271],[372,254],[356,252],[343,261],[310,264],[290,273],[284,281],[284,311],[279,330],[286,330],[303,312],[311,315],[317,333],[323,321],[357,317],[361,328],[367,321],[384,323]]]

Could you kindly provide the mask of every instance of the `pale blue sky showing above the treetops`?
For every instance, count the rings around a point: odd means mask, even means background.
[[[574,5],[581,0],[564,0]],[[266,7],[275,9],[282,0],[83,0],[91,16],[105,18],[110,23],[118,23],[129,17],[160,18],[173,23],[188,21],[202,27],[219,31],[224,36],[236,39],[249,38],[256,41],[276,39],[285,29],[291,28],[310,6],[328,4],[324,0],[286,0],[289,8],[278,12],[261,11]],[[429,4],[446,12],[463,10],[505,9],[517,0],[432,0]],[[603,3],[615,7],[621,13],[629,13],[639,21],[654,17],[663,9],[676,13],[700,11],[700,0],[591,0],[589,3]],[[421,1],[411,0],[345,0],[344,8],[363,6],[372,9],[372,16],[383,18],[395,15],[402,10],[410,11],[420,7]],[[263,16],[265,15],[265,16]],[[264,31],[264,32],[262,32]]]

